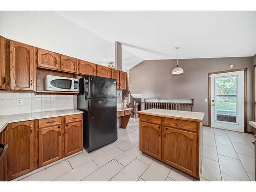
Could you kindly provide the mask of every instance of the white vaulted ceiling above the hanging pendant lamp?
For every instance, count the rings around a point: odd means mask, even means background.
[[[256,11],[57,11],[142,60],[256,53]]]

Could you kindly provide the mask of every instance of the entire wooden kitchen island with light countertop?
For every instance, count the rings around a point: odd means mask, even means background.
[[[140,151],[200,179],[204,113],[150,109],[140,115]]]

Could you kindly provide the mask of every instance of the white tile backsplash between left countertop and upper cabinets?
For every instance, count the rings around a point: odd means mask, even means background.
[[[22,99],[21,105],[16,99]],[[73,95],[36,95],[0,91],[0,115],[74,109]]]

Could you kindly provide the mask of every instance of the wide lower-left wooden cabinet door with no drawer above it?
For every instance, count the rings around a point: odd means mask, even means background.
[[[33,121],[10,123],[6,130],[7,180],[31,172],[35,168],[36,137]]]

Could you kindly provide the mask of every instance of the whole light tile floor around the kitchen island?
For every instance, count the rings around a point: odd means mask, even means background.
[[[20,181],[197,181],[139,151],[139,121],[131,119],[118,140],[88,154],[46,166]],[[203,127],[201,181],[254,181],[254,137]]]

